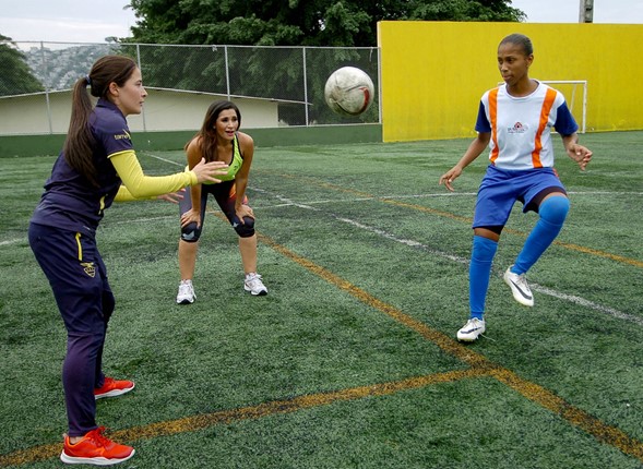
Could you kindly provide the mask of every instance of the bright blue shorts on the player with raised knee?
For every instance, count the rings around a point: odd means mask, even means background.
[[[531,202],[551,189],[567,194],[553,168],[511,170],[489,165],[478,190],[473,228],[503,227],[516,202],[523,204],[523,212],[536,212]]]

